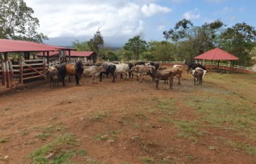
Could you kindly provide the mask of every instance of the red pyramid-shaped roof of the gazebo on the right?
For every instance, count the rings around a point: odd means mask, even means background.
[[[216,48],[210,51],[207,51],[194,59],[207,59],[207,60],[238,60],[238,57],[227,53],[226,51]]]

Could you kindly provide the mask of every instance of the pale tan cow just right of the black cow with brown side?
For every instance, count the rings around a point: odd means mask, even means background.
[[[99,77],[99,74],[101,74],[101,72],[106,72],[106,70],[107,68],[103,65],[102,66],[85,66],[84,75],[86,77],[92,77],[92,83],[94,83],[94,79]]]

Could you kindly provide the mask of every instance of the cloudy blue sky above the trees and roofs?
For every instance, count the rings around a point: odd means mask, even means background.
[[[71,46],[93,38],[99,29],[105,46],[123,46],[142,35],[164,40],[163,31],[183,18],[196,26],[222,20],[228,27],[245,22],[256,27],[255,0],[24,0],[40,21],[47,44]]]

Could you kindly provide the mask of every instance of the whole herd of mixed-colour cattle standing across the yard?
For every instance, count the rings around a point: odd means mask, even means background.
[[[76,85],[79,85],[79,81],[82,76],[92,77],[92,83],[102,81],[105,76],[112,76],[112,82],[114,83],[117,76],[125,80],[133,78],[133,75],[137,77],[137,80],[142,82],[144,76],[151,77],[152,81],[155,81],[155,88],[158,90],[159,81],[163,80],[164,83],[170,83],[170,89],[172,89],[173,78],[178,79],[178,84],[181,84],[182,72],[185,68],[181,65],[174,65],[172,68],[164,68],[157,63],[150,62],[145,63],[138,61],[136,64],[131,63],[117,63],[106,62],[102,64],[86,64],[83,65],[81,61],[76,61],[75,64],[63,63],[60,66],[50,67],[47,70],[47,77],[50,79],[50,85],[52,87],[58,86],[58,82],[62,81],[62,85],[65,86],[65,77],[75,77]],[[192,76],[194,77],[194,85],[203,83],[203,77],[205,76],[206,69],[201,64],[188,65],[187,71],[192,70]]]

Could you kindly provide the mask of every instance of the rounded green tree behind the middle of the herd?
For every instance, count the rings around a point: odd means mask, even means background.
[[[126,51],[131,51],[134,57],[133,59],[138,60],[140,54],[146,51],[147,43],[146,41],[141,39],[141,36],[134,36],[133,38],[129,39],[127,43],[125,43],[124,49]]]

